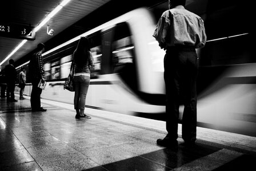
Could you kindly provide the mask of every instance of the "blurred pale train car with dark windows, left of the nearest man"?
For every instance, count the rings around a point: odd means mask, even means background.
[[[154,29],[150,12],[137,9],[43,53],[48,86],[41,97],[73,103],[74,92],[63,89],[63,82],[69,74],[79,38],[87,36],[95,63],[87,107],[126,114],[163,113],[165,52],[158,48],[152,36]],[[24,94],[30,95],[30,92],[28,84]]]

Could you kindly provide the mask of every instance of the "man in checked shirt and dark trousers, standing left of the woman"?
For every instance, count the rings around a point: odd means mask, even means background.
[[[42,52],[45,50],[45,44],[39,43],[35,53],[32,55],[29,62],[29,73],[32,83],[32,91],[30,104],[32,111],[46,111],[41,107],[42,89],[38,88],[40,80],[45,83],[45,67],[43,66]]]

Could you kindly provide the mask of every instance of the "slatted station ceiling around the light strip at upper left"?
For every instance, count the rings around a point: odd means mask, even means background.
[[[71,0],[35,33],[35,40],[27,40],[27,42],[9,59],[17,61],[22,56],[35,50],[38,43],[47,42],[47,40],[52,39],[60,32],[109,1],[111,0]],[[5,25],[5,23],[36,27],[60,2],[61,0],[5,0],[1,2],[0,5],[0,27],[1,25]],[[53,35],[47,34],[47,26],[49,30],[54,30]],[[22,39],[0,36],[0,63],[21,42]],[[9,63],[9,59],[2,63],[2,69]]]

